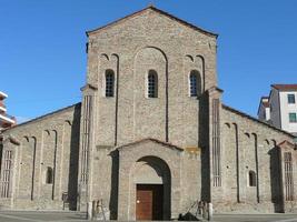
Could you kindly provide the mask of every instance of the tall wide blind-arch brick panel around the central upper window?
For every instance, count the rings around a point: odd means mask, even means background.
[[[161,105],[154,105],[156,109],[152,109],[151,105],[147,102],[145,103],[143,98],[146,98],[146,85],[147,85],[147,78],[148,78],[148,71],[155,70],[158,73],[158,82],[159,82],[159,89],[158,91],[158,103]],[[136,50],[135,57],[133,57],[133,135],[135,137],[142,137],[143,135],[143,122],[140,122],[139,113],[147,113],[147,112],[156,112],[156,115],[164,115],[165,121],[161,121],[159,119],[154,119],[154,115],[151,115],[151,121],[157,121],[160,123],[160,130],[159,133],[156,131],[147,132],[147,137],[158,138],[164,141],[168,142],[168,58],[167,53],[159,49],[158,47],[154,46],[147,46],[141,47]],[[141,94],[140,94],[141,93]],[[145,95],[145,97],[143,97]],[[148,101],[148,100],[146,100]],[[149,100],[151,103],[152,100]],[[154,100],[156,101],[156,100]],[[137,108],[137,103],[140,102],[141,108]],[[161,109],[159,109],[161,108]],[[150,109],[150,111],[148,111]],[[149,113],[147,113],[149,115]],[[157,124],[158,124],[157,123]],[[165,137],[165,138],[160,138]]]

